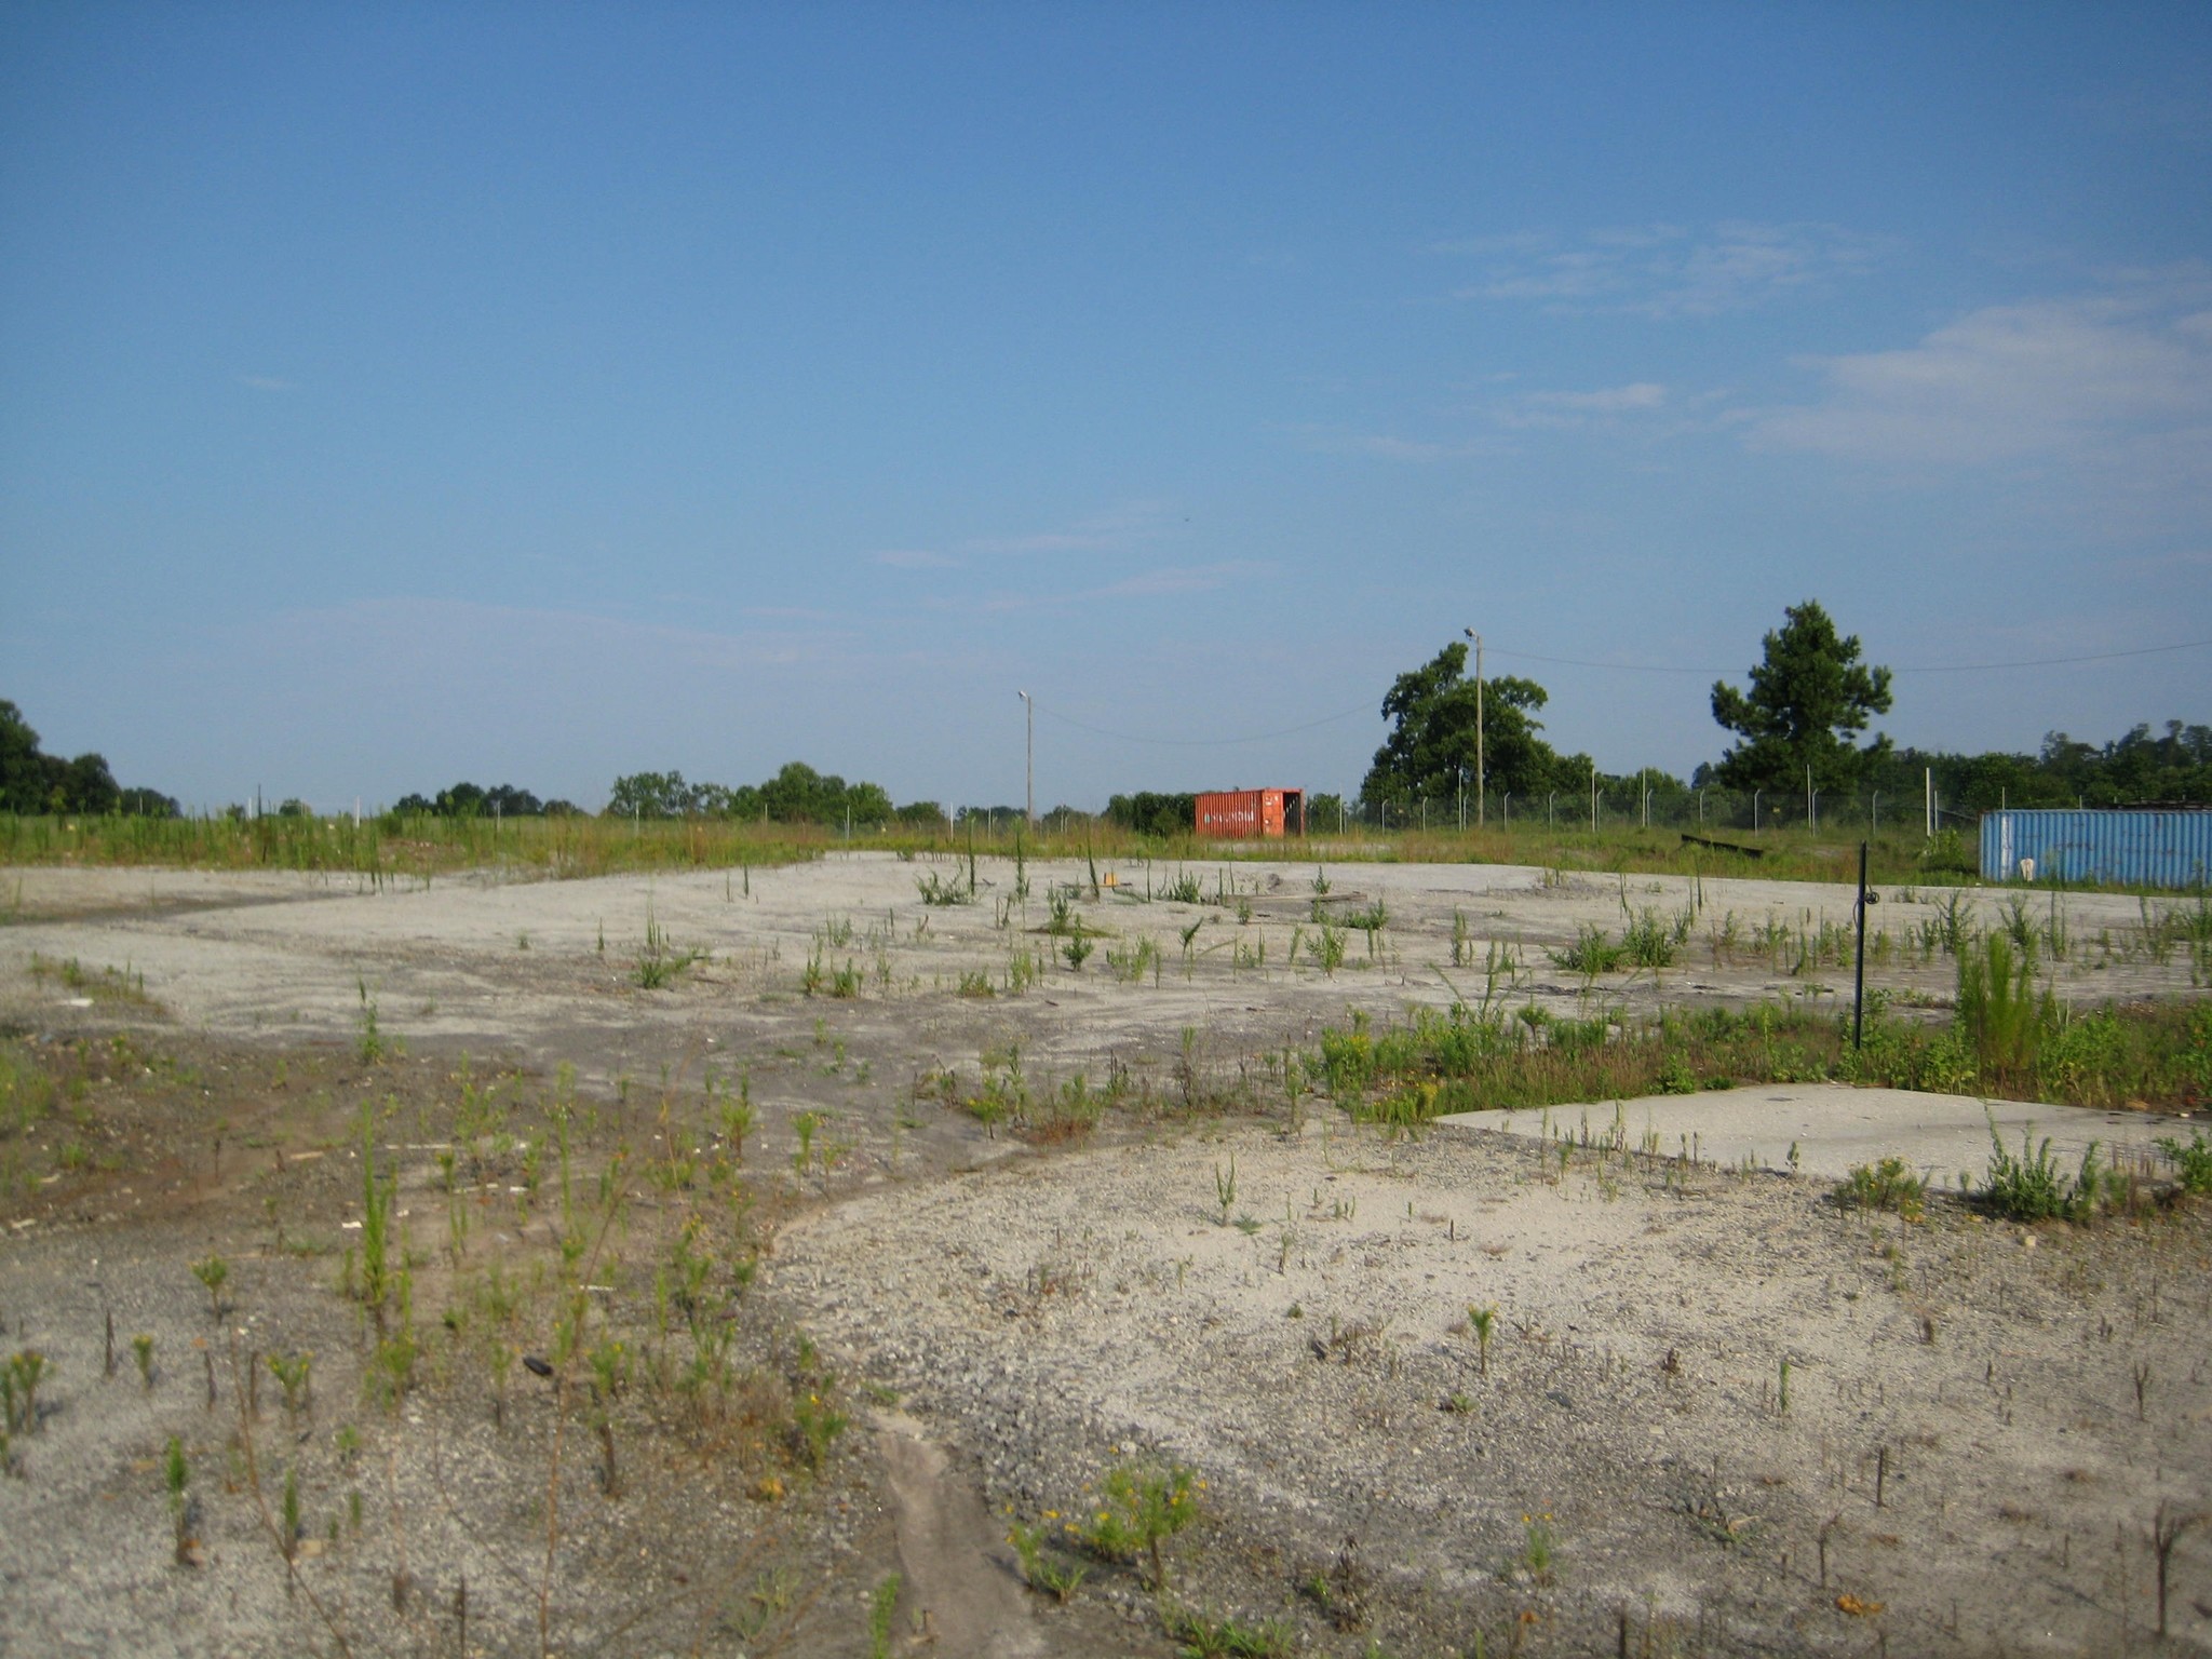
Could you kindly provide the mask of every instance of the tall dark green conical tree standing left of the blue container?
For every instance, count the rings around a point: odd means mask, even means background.
[[[1728,681],[1712,686],[1712,717],[1743,737],[1721,754],[1712,776],[1730,790],[1851,790],[1889,752],[1876,737],[1856,748],[1851,737],[1867,721],[1889,712],[1889,670],[1858,659],[1858,635],[1836,637],[1814,599],[1783,613],[1778,633],[1763,641],[1765,655],[1752,668],[1752,688]]]

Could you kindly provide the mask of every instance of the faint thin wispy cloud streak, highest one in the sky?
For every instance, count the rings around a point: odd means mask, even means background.
[[[1893,252],[1885,237],[1825,223],[1725,221],[1619,226],[1577,239],[1544,232],[1444,241],[1482,276],[1458,299],[1537,301],[1553,312],[1717,316],[1871,270]]]

